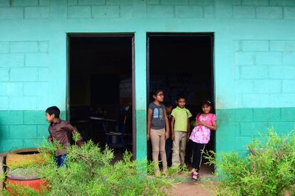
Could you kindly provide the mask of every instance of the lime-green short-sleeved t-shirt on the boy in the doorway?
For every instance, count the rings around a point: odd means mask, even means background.
[[[187,119],[192,116],[190,110],[176,107],[172,110],[171,116],[175,119],[174,131],[187,131]]]

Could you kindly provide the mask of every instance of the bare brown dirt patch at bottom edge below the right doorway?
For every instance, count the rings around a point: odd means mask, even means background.
[[[166,192],[167,195],[215,195],[214,187],[216,187],[216,183],[211,182],[187,182],[187,183],[179,183],[174,184],[171,188],[169,188]]]

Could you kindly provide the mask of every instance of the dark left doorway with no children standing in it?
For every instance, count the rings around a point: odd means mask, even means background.
[[[133,34],[68,36],[68,120],[85,141],[135,155]],[[110,134],[110,132],[122,133]]]

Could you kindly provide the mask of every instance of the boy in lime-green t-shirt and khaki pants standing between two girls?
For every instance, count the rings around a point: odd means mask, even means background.
[[[171,113],[171,139],[172,144],[172,166],[185,165],[185,147],[190,137],[190,110],[185,108],[186,99],[180,95],[177,97],[177,107]]]

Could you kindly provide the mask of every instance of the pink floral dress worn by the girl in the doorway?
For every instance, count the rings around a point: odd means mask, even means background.
[[[204,114],[197,114],[196,120],[205,121],[206,124],[212,125],[212,121],[216,121],[216,116],[211,113],[206,116]],[[206,126],[195,126],[195,128],[192,129],[190,140],[195,143],[208,143],[210,140],[210,132],[210,129]]]

